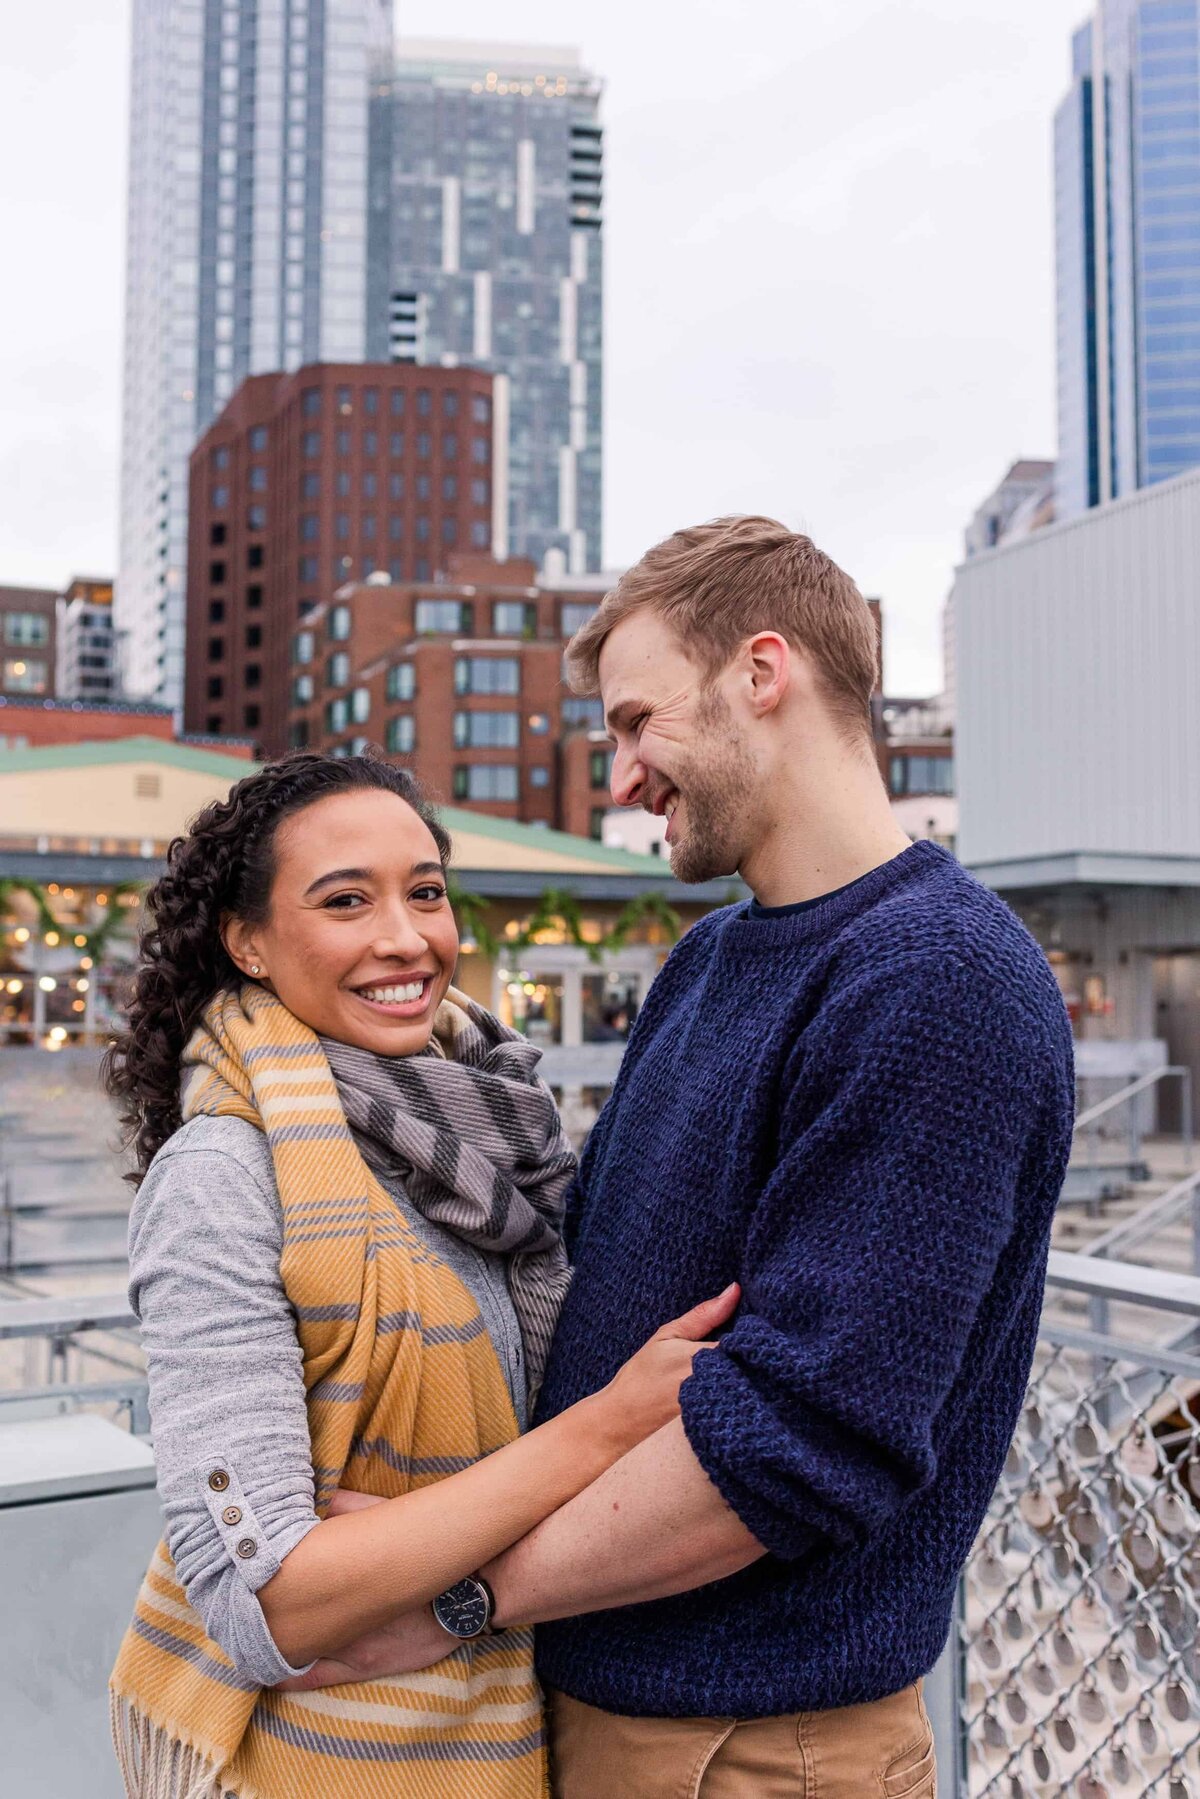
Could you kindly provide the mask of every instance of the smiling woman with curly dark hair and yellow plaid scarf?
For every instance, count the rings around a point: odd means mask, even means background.
[[[675,1414],[730,1310],[520,1434],[574,1157],[536,1049],[450,984],[448,856],[403,770],[295,756],[148,900],[106,1069],[166,1513],[112,1678],[137,1799],[542,1795],[531,1632],[486,1633],[471,1576]],[[383,1502],[326,1517],[338,1486]],[[435,1666],[304,1687],[428,1601]]]

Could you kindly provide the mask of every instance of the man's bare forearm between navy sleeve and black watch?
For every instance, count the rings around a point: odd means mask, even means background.
[[[675,1419],[484,1571],[498,1624],[664,1599],[765,1554]]]

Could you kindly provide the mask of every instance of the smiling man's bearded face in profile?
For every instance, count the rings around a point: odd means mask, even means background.
[[[604,639],[601,698],[613,741],[612,797],[667,817],[680,882],[734,874],[748,849],[757,768],[725,694],[651,612]]]

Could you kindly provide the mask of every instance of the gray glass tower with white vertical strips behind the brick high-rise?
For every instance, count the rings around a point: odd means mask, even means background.
[[[578,50],[401,40],[371,124],[367,356],[497,376],[493,550],[572,574],[601,567],[599,99]]]

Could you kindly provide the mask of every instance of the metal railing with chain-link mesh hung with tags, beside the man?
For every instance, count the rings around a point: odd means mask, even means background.
[[[1124,1335],[1043,1319],[928,1682],[941,1792],[1198,1799],[1200,1279],[1052,1254],[1049,1288]]]

